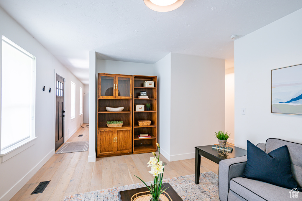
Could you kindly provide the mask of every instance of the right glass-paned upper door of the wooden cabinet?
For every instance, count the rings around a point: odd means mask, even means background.
[[[116,98],[132,98],[132,76],[116,75]]]

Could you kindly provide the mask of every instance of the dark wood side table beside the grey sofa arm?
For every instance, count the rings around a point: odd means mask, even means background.
[[[229,158],[235,158],[246,155],[246,150],[233,147],[233,151],[228,156],[220,156],[216,149],[212,148],[213,145],[195,147],[195,183],[199,183],[200,176],[200,156],[219,164],[219,161]]]

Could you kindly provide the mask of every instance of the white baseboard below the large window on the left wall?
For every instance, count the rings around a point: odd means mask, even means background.
[[[53,156],[55,150],[51,150],[34,168],[31,169],[22,179],[20,179],[10,190],[8,190],[1,198],[0,201],[10,200],[26,183],[33,177],[43,165]]]

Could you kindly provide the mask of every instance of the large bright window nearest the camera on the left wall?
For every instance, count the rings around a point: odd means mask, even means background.
[[[2,36],[1,153],[35,137],[35,70],[35,57]]]

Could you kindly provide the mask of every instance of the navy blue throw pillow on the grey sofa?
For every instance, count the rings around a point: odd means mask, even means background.
[[[291,173],[291,160],[286,145],[267,154],[247,141],[247,164],[241,177],[288,189],[298,188],[301,191]]]

